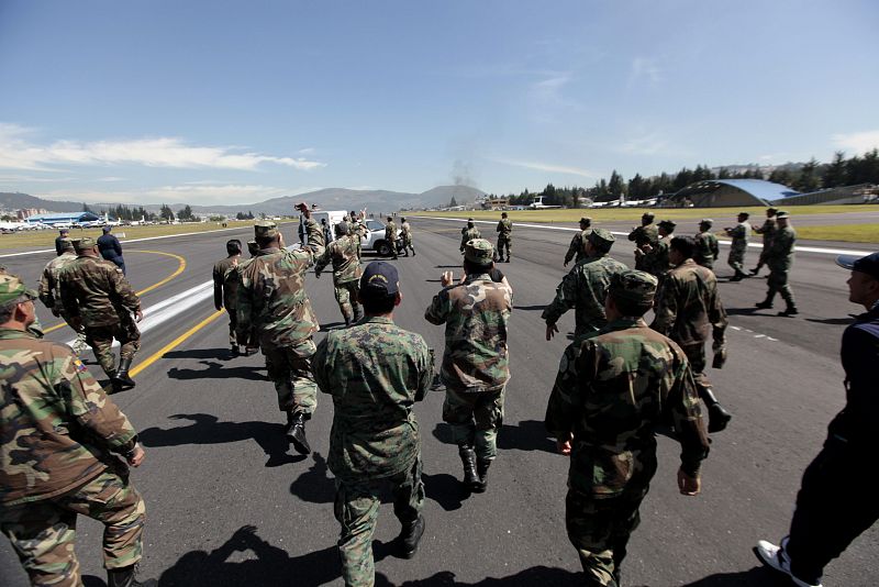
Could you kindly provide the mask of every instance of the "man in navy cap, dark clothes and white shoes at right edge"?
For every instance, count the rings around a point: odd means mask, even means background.
[[[879,520],[876,486],[865,483],[879,450],[879,253],[842,255],[836,263],[852,270],[848,301],[867,309],[843,333],[845,408],[803,474],[790,533],[778,546],[761,540],[754,549],[761,563],[799,587],[821,587],[824,567]]]

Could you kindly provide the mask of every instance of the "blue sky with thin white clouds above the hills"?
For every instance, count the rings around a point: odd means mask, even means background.
[[[0,191],[246,203],[828,160],[879,145],[877,24],[869,0],[0,0]]]

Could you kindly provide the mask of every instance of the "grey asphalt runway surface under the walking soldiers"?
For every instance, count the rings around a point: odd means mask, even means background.
[[[717,220],[717,219],[715,219]],[[401,326],[421,333],[442,353],[443,328],[423,319],[439,290],[443,270],[460,275],[463,223],[414,219],[415,257],[392,262],[400,269]],[[716,225],[716,223],[715,223]],[[493,225],[479,224],[494,241]],[[572,228],[572,225],[571,225]],[[294,224],[282,232],[292,242]],[[132,243],[125,247],[129,277],[143,290],[186,267],[143,296],[144,308],[164,300],[196,299],[192,288],[211,278],[235,230]],[[501,265],[514,289],[510,325],[512,379],[486,494],[467,496],[459,486],[460,462],[442,422],[442,391],[415,408],[421,423],[426,532],[415,558],[393,555],[399,523],[386,500],[375,536],[376,584],[405,586],[578,585],[577,554],[564,525],[568,462],[556,454],[543,418],[559,357],[574,330],[574,312],[559,321],[560,334],[544,340],[541,311],[570,268],[561,261],[574,232],[515,228],[513,262]],[[819,243],[811,243],[819,245]],[[871,245],[841,245],[870,251]],[[136,253],[135,251],[143,251]],[[623,565],[624,585],[770,586],[783,580],[759,566],[752,546],[776,541],[788,530],[803,469],[817,454],[827,422],[843,407],[842,332],[859,308],[847,301],[848,273],[834,256],[798,253],[791,284],[800,314],[779,318],[783,307],[755,310],[766,281],[728,283],[728,247],[721,248],[717,274],[730,313],[730,359],[710,369],[721,401],[734,413],[731,428],[715,434],[703,467],[703,492],[682,497],[676,487],[679,447],[659,438],[659,470],[641,508]],[[750,250],[746,266],[756,264]],[[0,259],[35,284],[51,254]],[[633,264],[631,243],[617,240],[612,256]],[[365,262],[371,261],[367,255]],[[764,269],[765,272],[765,269]],[[342,325],[332,276],[307,288],[323,329]],[[57,323],[42,306],[46,328]],[[176,586],[342,585],[333,518],[334,485],[325,464],[332,402],[319,395],[308,427],[313,454],[288,450],[283,416],[266,379],[262,355],[232,357],[227,318],[215,314],[212,297],[152,326],[135,359],[137,387],[113,396],[141,433],[145,464],[133,472],[147,505],[142,577]],[[318,340],[323,337],[318,334]],[[60,328],[47,334],[69,341]],[[90,356],[90,355],[89,355]],[[99,379],[100,367],[90,361]],[[867,483],[872,473],[841,479]],[[100,524],[80,518],[77,553],[86,585],[102,585]],[[98,578],[100,577],[100,578]],[[827,586],[879,583],[879,529],[874,528],[826,569]]]

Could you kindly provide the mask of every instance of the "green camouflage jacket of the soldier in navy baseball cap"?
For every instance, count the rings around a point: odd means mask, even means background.
[[[412,405],[433,381],[420,334],[367,317],[332,331],[312,361],[321,391],[333,396],[327,466],[341,479],[377,479],[412,466],[421,453]]]

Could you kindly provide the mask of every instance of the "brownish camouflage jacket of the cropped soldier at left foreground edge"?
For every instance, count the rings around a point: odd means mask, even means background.
[[[47,499],[102,473],[136,433],[68,346],[0,329],[0,505]]]

